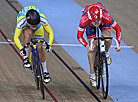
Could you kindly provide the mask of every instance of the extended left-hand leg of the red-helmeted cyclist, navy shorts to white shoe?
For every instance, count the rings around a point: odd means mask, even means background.
[[[89,41],[89,46],[90,46],[91,38],[96,37],[96,29],[94,26],[89,25],[86,27],[86,36],[87,36],[87,39]],[[92,80],[95,80],[94,60],[95,60],[95,54],[96,54],[96,51],[95,51],[96,43],[97,43],[97,41],[93,42],[94,51],[87,53],[88,54],[88,60],[89,60],[89,66],[90,66],[90,83],[93,86],[96,86],[96,82],[92,81]]]

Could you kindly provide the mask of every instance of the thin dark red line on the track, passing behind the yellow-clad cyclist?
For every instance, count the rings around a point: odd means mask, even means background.
[[[8,41],[8,38],[6,37],[6,35],[2,32],[2,30],[0,29],[0,33],[1,35],[4,37],[4,39],[9,42],[9,45],[13,48],[13,50],[16,52],[16,54],[20,57],[21,60],[23,60],[22,56],[20,55],[20,53],[16,50],[16,48],[10,43],[10,41]],[[43,84],[45,90],[47,91],[47,93],[51,96],[51,98],[55,101],[58,102],[58,100],[54,97],[54,95],[49,91],[49,89],[46,87],[45,84]]]

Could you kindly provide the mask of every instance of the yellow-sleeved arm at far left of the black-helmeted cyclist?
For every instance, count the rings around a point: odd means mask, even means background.
[[[22,32],[22,28],[19,28],[19,27],[15,28],[14,42],[20,50],[23,48],[19,40],[19,36],[21,35],[21,32]]]

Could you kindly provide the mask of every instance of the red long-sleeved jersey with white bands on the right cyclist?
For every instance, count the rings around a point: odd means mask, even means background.
[[[91,4],[91,5],[87,5],[83,9],[82,18],[80,20],[78,33],[77,33],[77,39],[79,40],[79,42],[85,47],[88,45],[88,43],[83,38],[83,34],[84,34],[84,31],[85,31],[85,27],[88,26],[88,25],[92,25],[92,23],[90,22],[90,20],[88,18],[88,14],[87,14],[89,8],[92,7],[92,6],[98,6],[100,9],[102,9],[103,18],[102,18],[101,23],[109,24],[116,31],[116,38],[117,38],[118,43],[120,44],[121,28],[117,24],[117,22],[115,20],[113,20],[113,18],[108,14],[107,10],[105,9],[105,7],[100,2]]]

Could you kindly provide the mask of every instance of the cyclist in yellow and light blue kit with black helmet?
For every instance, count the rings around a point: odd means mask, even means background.
[[[49,42],[46,48],[47,51],[50,50],[50,46],[52,46],[52,42],[54,39],[54,33],[51,29],[47,18],[45,15],[36,7],[36,6],[27,6],[24,7],[17,16],[17,24],[15,28],[14,34],[14,42],[16,46],[20,49],[20,54],[23,56],[23,66],[26,68],[30,68],[31,64],[28,58],[28,50],[29,48],[23,49],[23,46],[30,42],[31,38],[33,37],[34,40],[44,40],[44,30],[49,34]],[[23,38],[23,46],[20,42],[20,35],[21,33],[24,35]],[[38,53],[40,55],[40,59],[42,62],[42,66],[44,68],[44,82],[49,83],[51,78],[49,73],[47,72],[46,68],[46,55],[42,48],[42,43],[37,43]]]

